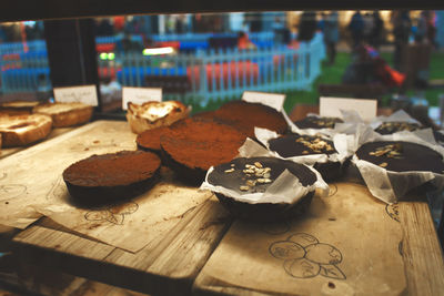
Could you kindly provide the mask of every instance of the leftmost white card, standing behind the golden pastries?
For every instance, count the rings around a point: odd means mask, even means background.
[[[79,102],[88,105],[98,105],[95,85],[54,88],[54,100],[60,103]]]

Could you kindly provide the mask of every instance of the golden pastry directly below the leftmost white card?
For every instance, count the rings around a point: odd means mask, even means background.
[[[83,103],[48,103],[38,105],[33,113],[52,118],[54,127],[67,127],[90,121],[93,108]]]

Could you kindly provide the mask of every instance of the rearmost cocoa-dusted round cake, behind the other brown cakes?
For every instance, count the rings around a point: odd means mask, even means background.
[[[211,114],[205,114],[206,116]],[[271,106],[244,101],[231,101],[212,114],[254,139],[254,126],[283,134],[289,125],[284,116]]]

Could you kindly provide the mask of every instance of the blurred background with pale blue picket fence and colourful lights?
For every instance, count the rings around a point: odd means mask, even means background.
[[[0,23],[0,102],[48,100],[53,86],[82,84],[69,76],[78,45],[69,35],[78,28],[92,35],[93,57],[83,57],[79,71],[97,73],[102,112],[121,112],[122,86],[162,88],[164,100],[194,112],[254,90],[285,93],[287,112],[321,95],[370,98],[393,109],[424,106],[441,124],[441,10],[118,16],[64,25],[70,21]]]

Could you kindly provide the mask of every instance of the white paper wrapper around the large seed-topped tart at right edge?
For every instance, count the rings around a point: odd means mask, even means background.
[[[428,140],[428,141],[426,141]],[[349,142],[350,151],[367,142],[374,141],[404,141],[430,147],[444,156],[444,147],[436,144],[431,129],[417,132],[397,132],[391,135],[380,135],[371,126],[356,125],[355,140]],[[365,184],[373,196],[392,204],[396,203],[408,191],[431,182],[437,188],[444,187],[444,174],[432,172],[412,171],[393,172],[367,161],[359,160],[353,155],[352,163],[359,169]]]

